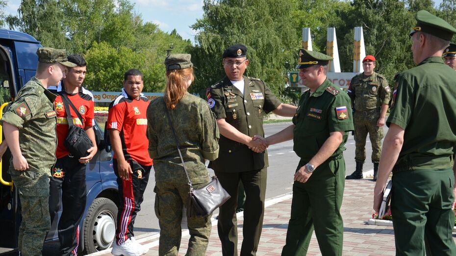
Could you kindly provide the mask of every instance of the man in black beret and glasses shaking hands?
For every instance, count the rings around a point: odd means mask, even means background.
[[[223,53],[226,77],[209,88],[207,102],[220,129],[220,155],[209,164],[231,198],[220,207],[218,233],[224,256],[237,255],[236,206],[239,181],[246,194],[241,255],[256,255],[263,226],[268,154],[262,140],[263,115],[293,116],[296,107],[283,104],[258,78],[244,76],[247,47],[233,45]],[[253,152],[250,148],[259,150]],[[261,152],[260,152],[261,151]]]

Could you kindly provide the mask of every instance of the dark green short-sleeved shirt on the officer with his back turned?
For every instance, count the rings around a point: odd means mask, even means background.
[[[430,57],[398,74],[386,125],[405,130],[394,171],[453,166],[456,146],[456,72]]]

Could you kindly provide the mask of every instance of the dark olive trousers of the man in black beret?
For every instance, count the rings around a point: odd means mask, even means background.
[[[255,256],[263,228],[267,168],[245,172],[215,172],[215,175],[231,196],[219,208],[217,230],[222,243],[222,253],[224,256],[237,255],[236,207],[241,181],[246,194],[241,256]]]

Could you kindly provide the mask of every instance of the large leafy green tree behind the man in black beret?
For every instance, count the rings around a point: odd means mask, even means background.
[[[285,63],[298,49],[291,27],[289,0],[204,0],[203,18],[192,25],[198,33],[192,61],[197,69],[193,92],[203,92],[225,76],[222,53],[230,45],[244,44],[250,59],[246,75],[263,79],[280,95],[285,89]]]

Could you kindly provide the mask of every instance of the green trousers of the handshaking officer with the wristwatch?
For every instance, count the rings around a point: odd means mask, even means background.
[[[305,163],[307,161],[301,160],[299,167]],[[306,183],[295,181],[282,256],[306,255],[314,229],[323,256],[342,255],[344,223],[340,207],[344,188],[342,154],[318,166]]]

